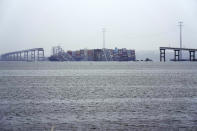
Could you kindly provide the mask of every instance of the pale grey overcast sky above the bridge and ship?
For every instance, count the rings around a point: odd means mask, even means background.
[[[197,48],[197,0],[0,0],[0,54],[61,45],[65,50]]]

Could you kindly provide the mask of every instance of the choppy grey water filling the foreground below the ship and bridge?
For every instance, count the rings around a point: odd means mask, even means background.
[[[0,130],[197,130],[197,62],[0,62]]]

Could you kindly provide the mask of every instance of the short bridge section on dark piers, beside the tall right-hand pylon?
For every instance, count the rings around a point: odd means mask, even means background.
[[[195,52],[197,49],[192,48],[176,48],[176,47],[160,47],[160,61],[166,61],[166,52],[165,50],[174,50],[174,61],[181,61],[180,55],[181,51],[188,51],[189,52],[189,60],[196,61],[195,59]]]

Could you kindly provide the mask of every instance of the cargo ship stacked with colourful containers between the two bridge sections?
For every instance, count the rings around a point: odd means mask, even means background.
[[[68,50],[66,53],[59,46],[52,48],[52,60],[57,61],[135,61],[135,50],[131,49],[81,49]]]

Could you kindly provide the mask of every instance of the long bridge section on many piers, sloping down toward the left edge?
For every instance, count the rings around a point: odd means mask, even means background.
[[[8,52],[1,55],[3,61],[42,61],[44,60],[44,49],[33,48],[15,52]]]

